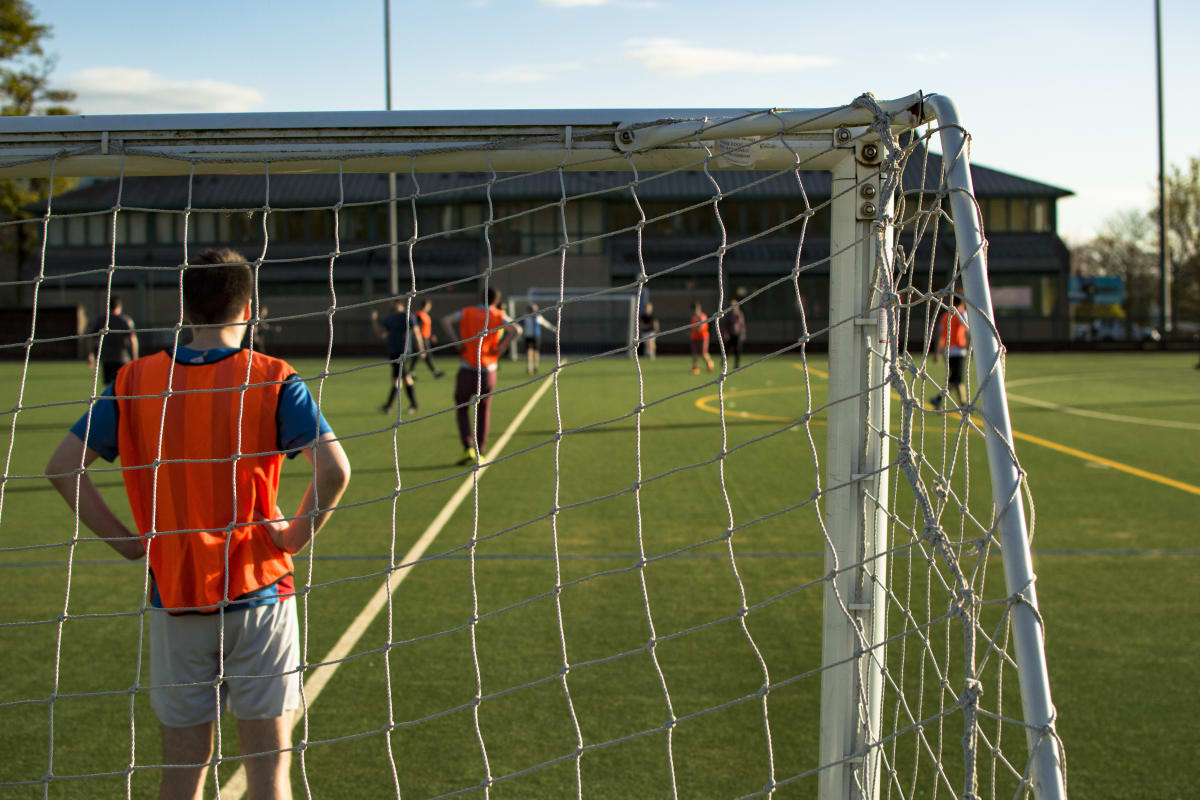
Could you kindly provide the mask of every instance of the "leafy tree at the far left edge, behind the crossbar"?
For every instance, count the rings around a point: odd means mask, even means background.
[[[67,107],[76,98],[74,92],[50,86],[54,58],[42,48],[50,35],[50,26],[35,19],[28,0],[0,0],[0,115],[76,113]],[[62,191],[70,184],[56,180],[53,188]],[[0,180],[0,219],[36,216],[29,209],[44,203],[50,188],[46,180]],[[36,239],[37,231],[31,224],[4,229],[0,234],[0,282],[16,281]],[[0,301],[19,302],[20,287],[13,289]]]

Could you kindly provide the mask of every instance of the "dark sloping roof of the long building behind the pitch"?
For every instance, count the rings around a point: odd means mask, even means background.
[[[918,154],[919,155],[919,154]],[[922,163],[925,167],[924,186],[936,187],[941,156],[928,160],[912,157],[904,175],[905,191],[922,186]],[[796,197],[796,180],[790,172],[714,170],[712,178],[703,172],[643,173],[638,176],[637,196],[642,199],[686,199],[709,197],[713,182],[722,193],[740,198]],[[824,172],[800,173],[806,193],[829,197],[830,176]],[[972,166],[972,180],[979,197],[1045,197],[1061,198],[1070,191],[1003,173],[988,167]],[[493,200],[553,199],[565,192],[569,197],[596,193],[598,197],[628,197],[632,180],[630,173],[570,172],[562,182],[556,170],[534,174],[500,174],[494,181],[482,173],[426,173],[415,179],[396,176],[397,197],[416,197],[428,203],[479,203],[490,194]],[[343,203],[378,203],[388,198],[385,174],[337,175],[276,175],[270,178],[270,205],[276,209],[329,207]],[[926,190],[929,191],[929,190]],[[268,201],[268,180],[262,175],[198,175],[172,178],[126,178],[91,181],[54,198],[55,212],[80,212],[109,209],[178,210],[193,209],[260,209]],[[41,209],[38,209],[41,211]]]

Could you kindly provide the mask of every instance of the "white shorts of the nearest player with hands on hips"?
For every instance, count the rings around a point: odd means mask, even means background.
[[[223,663],[217,658],[222,622]],[[218,708],[239,720],[269,720],[298,709],[299,664],[293,599],[223,614],[151,609],[150,705],[167,727],[211,722]]]

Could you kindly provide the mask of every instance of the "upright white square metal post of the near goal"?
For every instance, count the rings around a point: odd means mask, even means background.
[[[882,614],[887,515],[870,498],[887,499],[881,475],[887,451],[886,365],[878,326],[858,324],[869,313],[875,277],[874,218],[859,219],[859,184],[868,168],[854,148],[839,150],[833,169],[829,264],[829,427],[824,521],[829,542],[822,622],[821,800],[877,796],[882,703]],[[870,387],[880,386],[875,391]],[[856,480],[859,479],[859,480]],[[868,563],[870,565],[868,566]],[[878,645],[878,649],[875,649]]]

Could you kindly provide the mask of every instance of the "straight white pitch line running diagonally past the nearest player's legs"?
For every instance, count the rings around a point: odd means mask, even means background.
[[[438,537],[438,534],[442,533],[445,524],[450,522],[450,517],[454,516],[454,512],[458,510],[462,501],[470,494],[472,488],[475,485],[474,479],[476,476],[479,479],[484,477],[484,473],[486,473],[492,462],[496,461],[496,457],[500,455],[504,446],[509,444],[509,440],[512,439],[514,434],[516,434],[517,428],[520,428],[521,423],[526,421],[526,417],[529,416],[530,411],[533,411],[533,407],[538,404],[538,401],[541,399],[541,396],[546,393],[546,390],[550,389],[553,380],[548,377],[547,380],[542,381],[541,386],[538,387],[538,391],[533,393],[533,397],[526,402],[526,404],[521,408],[521,411],[518,411],[512,422],[509,423],[509,427],[496,443],[496,446],[488,452],[487,459],[479,465],[478,473],[475,473],[475,475],[467,476],[467,480],[462,482],[450,500],[445,504],[445,506],[443,506],[438,516],[433,518],[433,522],[431,522],[430,527],[425,529],[421,537],[416,540],[416,543],[413,545],[407,553],[404,553],[404,558],[401,559],[401,564],[406,566],[400,567],[388,577],[384,585],[379,587],[378,591],[374,593],[374,596],[372,596],[362,610],[359,612],[359,615],[354,618],[354,621],[346,628],[346,632],[342,633],[341,638],[337,639],[337,644],[335,644],[332,649],[325,654],[325,657],[320,660],[320,666],[312,669],[307,680],[304,682],[305,705],[311,708],[312,704],[317,702],[317,698],[320,697],[325,685],[329,684],[334,673],[337,672],[337,668],[342,666],[342,661],[350,655],[354,646],[359,643],[359,639],[362,638],[362,634],[366,633],[367,628],[379,615],[379,612],[383,610],[384,606],[388,603],[389,595],[395,593],[400,584],[403,583],[418,559],[425,554],[425,551],[428,549],[430,545],[433,543],[433,540]],[[301,715],[296,715],[295,722],[292,723],[293,729],[300,724],[302,718],[304,717]],[[226,800],[227,798],[228,800],[241,800],[245,794],[246,769],[244,766],[239,766],[238,771],[229,776],[224,787],[221,788],[221,798],[222,800]]]

